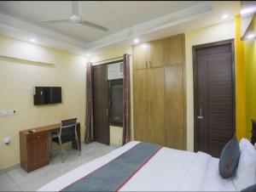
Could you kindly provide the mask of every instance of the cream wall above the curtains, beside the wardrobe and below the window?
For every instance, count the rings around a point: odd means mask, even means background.
[[[125,47],[125,48],[116,48],[116,49],[110,49],[106,52],[103,52],[102,54],[98,54],[90,59],[91,62],[101,61],[105,59],[112,59],[116,57],[123,56],[124,54],[131,54],[131,47]],[[130,57],[131,60],[131,76],[132,76],[132,55]],[[133,140],[133,90],[132,90],[132,78],[131,78],[131,139]],[[110,126],[110,144],[113,145],[122,145],[123,138],[123,128],[122,127],[113,127]]]

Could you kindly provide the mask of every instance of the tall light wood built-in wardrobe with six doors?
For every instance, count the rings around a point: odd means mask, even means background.
[[[186,149],[184,35],[133,47],[135,140]]]

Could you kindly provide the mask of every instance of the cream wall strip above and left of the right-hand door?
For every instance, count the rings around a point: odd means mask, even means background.
[[[194,150],[194,92],[192,46],[235,38],[235,20],[185,32],[187,78],[187,150]]]

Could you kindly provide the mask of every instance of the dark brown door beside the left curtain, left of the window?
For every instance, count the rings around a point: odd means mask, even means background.
[[[94,139],[109,144],[107,65],[93,67]]]

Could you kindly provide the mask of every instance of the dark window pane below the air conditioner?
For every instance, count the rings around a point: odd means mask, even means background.
[[[109,123],[123,127],[123,79],[109,82]]]

